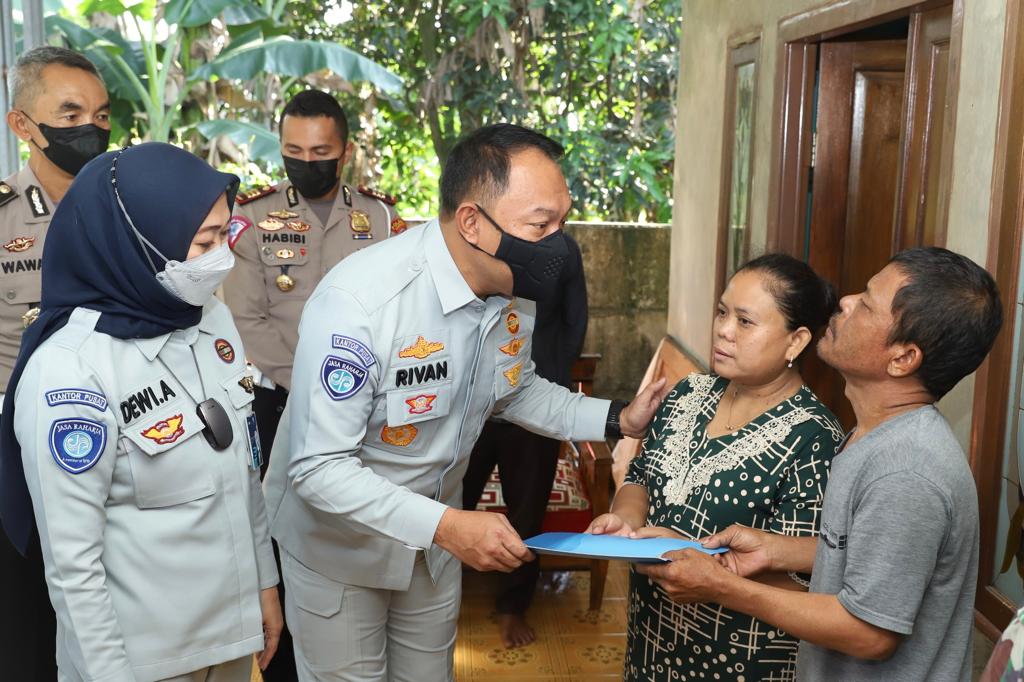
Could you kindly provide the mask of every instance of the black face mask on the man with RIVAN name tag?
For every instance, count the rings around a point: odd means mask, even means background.
[[[531,301],[551,298],[558,291],[558,282],[569,257],[562,230],[539,242],[527,242],[506,232],[479,206],[476,210],[502,233],[495,258],[505,261],[512,269],[512,294]]]

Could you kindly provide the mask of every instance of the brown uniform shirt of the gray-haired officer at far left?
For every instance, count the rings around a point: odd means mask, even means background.
[[[43,242],[55,206],[26,166],[0,182],[0,394],[22,345],[26,315],[39,305]]]

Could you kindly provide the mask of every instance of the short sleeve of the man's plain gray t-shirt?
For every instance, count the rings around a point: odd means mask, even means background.
[[[898,471],[872,481],[848,531],[840,603],[861,621],[909,635],[950,522],[949,501],[927,478]]]

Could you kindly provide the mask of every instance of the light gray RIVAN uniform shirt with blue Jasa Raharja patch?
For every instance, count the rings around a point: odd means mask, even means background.
[[[534,316],[525,300],[477,298],[436,220],[335,267],[302,316],[274,441],[291,452],[272,459],[266,482],[281,547],[332,580],[396,590],[425,548],[436,581],[452,556],[434,531],[461,506],[488,415],[553,438],[602,438],[607,400],[535,374]]]

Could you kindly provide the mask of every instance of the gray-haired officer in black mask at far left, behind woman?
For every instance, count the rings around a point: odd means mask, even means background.
[[[43,243],[75,175],[106,151],[110,99],[96,68],[62,47],[29,50],[8,72],[7,126],[29,147],[29,163],[0,182],[0,399],[22,332],[39,311]],[[56,676],[55,621],[39,543],[22,557],[0,538],[0,679]]]

